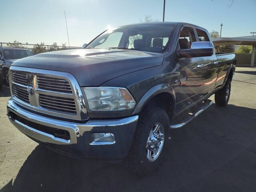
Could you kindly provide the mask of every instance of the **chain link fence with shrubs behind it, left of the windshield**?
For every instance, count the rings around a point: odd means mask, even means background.
[[[68,50],[68,49],[79,49],[81,47],[68,47],[66,44],[62,44],[62,46],[58,46],[56,43],[52,45],[41,44],[22,44],[22,43],[4,43],[0,42],[1,47],[17,47],[17,48],[26,48],[31,50],[34,54],[49,52],[49,51],[58,51],[58,50]]]

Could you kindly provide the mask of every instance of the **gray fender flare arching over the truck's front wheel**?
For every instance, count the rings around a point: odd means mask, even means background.
[[[132,114],[138,114],[143,110],[143,108],[146,106],[146,104],[152,99],[154,96],[160,94],[160,93],[169,93],[170,96],[172,97],[172,100],[174,101],[173,103],[173,109],[175,111],[175,106],[176,106],[176,94],[174,89],[168,85],[168,84],[158,84],[150,88],[149,90],[144,93],[144,95],[140,98],[134,112]]]

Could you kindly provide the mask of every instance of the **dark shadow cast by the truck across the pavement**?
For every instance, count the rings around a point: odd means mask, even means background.
[[[122,164],[78,160],[38,145],[4,191],[253,191],[256,109],[210,106],[172,130],[163,165],[146,177]],[[145,153],[146,155],[146,153]]]

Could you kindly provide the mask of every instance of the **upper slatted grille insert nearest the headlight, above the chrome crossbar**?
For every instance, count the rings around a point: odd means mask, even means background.
[[[64,79],[37,76],[37,85],[45,90],[72,93],[70,84]]]

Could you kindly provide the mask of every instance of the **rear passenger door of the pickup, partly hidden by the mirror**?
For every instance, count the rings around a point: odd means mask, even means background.
[[[199,41],[211,41],[208,32],[204,29],[196,28],[196,36]],[[218,61],[215,52],[212,56],[200,57],[198,64],[200,64],[203,73],[201,97],[204,97],[212,93],[218,76]]]

